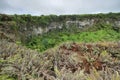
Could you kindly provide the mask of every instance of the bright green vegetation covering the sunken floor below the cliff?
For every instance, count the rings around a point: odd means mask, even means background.
[[[49,32],[42,36],[33,36],[26,43],[26,46],[31,49],[36,49],[40,52],[52,48],[62,42],[103,42],[103,41],[119,41],[120,34],[111,29],[102,29],[94,32]]]

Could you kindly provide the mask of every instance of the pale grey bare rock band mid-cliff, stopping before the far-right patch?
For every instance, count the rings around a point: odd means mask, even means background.
[[[39,35],[43,33],[47,33],[53,29],[62,29],[63,26],[66,26],[66,28],[70,28],[71,26],[78,27],[80,29],[85,28],[85,27],[90,27],[94,24],[94,20],[83,20],[83,21],[66,21],[65,23],[58,23],[58,22],[52,22],[45,28],[42,28],[41,26],[39,27],[33,27],[33,34],[34,35]]]

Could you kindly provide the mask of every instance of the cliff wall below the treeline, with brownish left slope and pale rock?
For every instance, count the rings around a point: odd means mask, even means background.
[[[22,18],[21,18],[22,19]],[[25,23],[19,23],[17,21],[12,20],[11,17],[3,16],[1,17],[0,23],[0,31],[7,34],[14,34],[17,39],[21,37],[27,38],[31,35],[42,35],[49,31],[53,31],[55,29],[61,30],[66,28],[68,30],[73,30],[77,28],[78,31],[82,29],[92,27],[96,24],[107,24],[111,25],[116,31],[120,31],[120,19],[112,19],[112,18],[97,18],[97,17],[90,17],[90,18],[78,18],[72,19],[68,18],[63,21],[52,21],[46,24],[46,26],[42,26],[38,23],[33,23],[26,21]]]

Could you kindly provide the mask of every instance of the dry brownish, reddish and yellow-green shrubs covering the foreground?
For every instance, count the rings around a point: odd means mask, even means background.
[[[111,56],[120,55],[119,48],[119,43],[116,42],[74,42],[61,44],[56,49],[39,54],[15,43],[1,40],[0,79],[119,80],[120,58]]]

